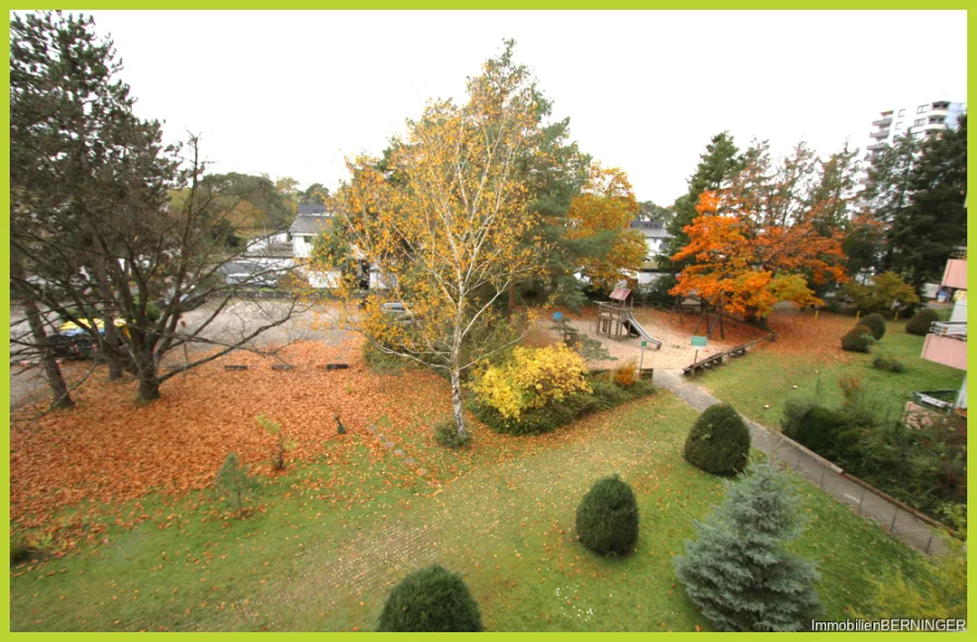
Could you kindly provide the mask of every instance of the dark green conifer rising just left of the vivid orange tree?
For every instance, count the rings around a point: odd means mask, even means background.
[[[699,158],[696,173],[688,180],[688,194],[684,194],[675,201],[675,214],[667,225],[668,233],[672,234],[666,252],[668,257],[689,243],[689,238],[683,228],[691,223],[692,219],[698,216],[696,205],[699,203],[699,195],[705,190],[725,187],[729,179],[743,168],[739,149],[728,132],[721,132],[713,136],[709,145],[705,146],[705,152]],[[671,263],[671,261],[665,263]],[[674,264],[673,267],[680,269],[682,265]]]

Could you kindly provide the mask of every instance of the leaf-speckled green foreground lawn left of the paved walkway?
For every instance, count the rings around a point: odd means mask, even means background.
[[[377,426],[397,431],[420,465],[455,475],[434,487],[377,451],[371,435],[351,433],[341,450],[328,441],[317,459],[265,477],[245,520],[222,516],[204,494],[150,496],[137,525],[13,567],[11,628],[373,630],[390,588],[439,562],[462,573],[489,630],[708,629],[672,570],[692,520],[723,494],[723,481],[682,458],[695,416],[660,391],[555,435],[506,438],[514,446],[499,457],[498,436],[483,427],[454,453],[379,415]],[[595,557],[574,533],[578,501],[614,472],[641,511],[637,552],[620,560]],[[828,618],[844,619],[849,606],[871,611],[869,578],[895,567],[915,574],[918,554],[812,486],[797,487],[810,523],[793,547],[820,568]]]

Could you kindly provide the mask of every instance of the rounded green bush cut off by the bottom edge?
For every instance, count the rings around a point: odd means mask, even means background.
[[[481,631],[482,615],[461,576],[432,565],[403,578],[379,615],[377,631]]]

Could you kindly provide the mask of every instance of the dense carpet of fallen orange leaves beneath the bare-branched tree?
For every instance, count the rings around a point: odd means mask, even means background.
[[[349,370],[321,367],[347,361],[347,353],[353,355]],[[353,444],[382,452],[365,433],[377,415],[403,426],[433,399],[449,403],[442,380],[429,373],[411,371],[381,383],[357,346],[299,342],[280,356],[297,370],[273,371],[268,360],[249,353],[226,356],[171,379],[162,399],[145,405],[135,403],[135,381],[109,383],[98,373],[76,391],[74,410],[33,420],[40,405],[20,409],[11,428],[11,520],[39,528],[57,510],[83,501],[206,488],[228,452],[268,472],[274,437],[255,423],[260,413],[289,431],[297,444],[290,460],[318,457],[331,441],[337,448],[330,457],[339,463]],[[249,370],[226,373],[226,363]],[[336,434],[336,413],[351,434]],[[149,516],[137,507],[131,517],[137,523]]]

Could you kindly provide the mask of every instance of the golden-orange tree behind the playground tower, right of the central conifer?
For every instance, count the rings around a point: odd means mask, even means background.
[[[638,211],[627,174],[616,167],[591,163],[590,178],[567,211],[567,238],[589,239],[606,247],[586,255],[580,266],[595,287],[613,290],[641,267],[648,252],[644,237],[629,227]]]

